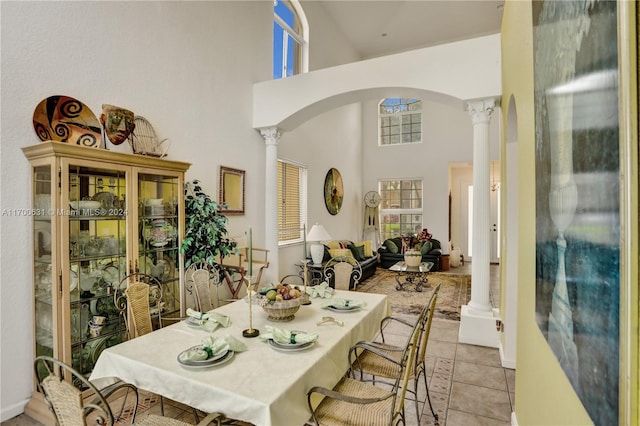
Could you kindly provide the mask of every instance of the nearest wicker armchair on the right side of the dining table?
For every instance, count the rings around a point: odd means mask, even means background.
[[[378,426],[406,424],[404,401],[410,366],[416,356],[419,333],[413,333],[400,357],[400,369],[391,388],[343,377],[333,389],[314,386],[307,392],[307,405],[315,425]],[[376,349],[371,349],[377,351]],[[384,356],[384,354],[381,354]],[[313,408],[313,396],[324,399]]]

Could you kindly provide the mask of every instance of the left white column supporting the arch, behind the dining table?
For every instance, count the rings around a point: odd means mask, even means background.
[[[259,129],[266,145],[264,168],[264,239],[269,250],[269,268],[265,269],[271,281],[277,282],[278,273],[278,141],[280,129],[262,127]]]

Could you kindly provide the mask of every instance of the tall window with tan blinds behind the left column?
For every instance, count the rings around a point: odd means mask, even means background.
[[[278,243],[302,241],[307,222],[307,169],[278,160]]]

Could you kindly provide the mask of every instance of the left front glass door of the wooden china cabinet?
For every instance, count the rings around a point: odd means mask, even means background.
[[[68,166],[71,363],[83,374],[126,336],[114,303],[116,290],[127,285],[126,178],[126,169]]]

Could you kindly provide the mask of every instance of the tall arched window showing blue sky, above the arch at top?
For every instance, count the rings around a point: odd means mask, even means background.
[[[273,6],[273,78],[308,71],[308,25],[297,0],[275,0]]]

